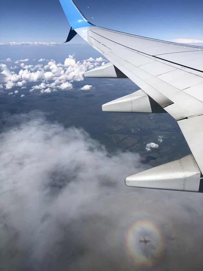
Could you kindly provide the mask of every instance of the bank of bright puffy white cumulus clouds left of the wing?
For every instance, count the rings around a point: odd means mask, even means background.
[[[40,59],[43,62],[45,59]],[[96,61],[97,60],[97,61]],[[6,89],[12,89],[13,87],[19,87],[25,85],[26,82],[39,82],[39,85],[31,87],[30,92],[39,90],[41,93],[47,93],[50,91],[56,91],[57,89],[70,90],[73,89],[74,81],[84,80],[84,72],[98,67],[101,65],[102,58],[88,58],[82,61],[76,61],[74,55],[69,55],[65,59],[64,63],[57,63],[54,60],[48,62],[48,64],[26,65],[24,62],[28,59],[17,60],[20,63],[21,70],[18,73],[11,71],[6,64],[0,64],[2,70],[1,74],[6,78]],[[105,62],[102,62],[102,65]],[[21,84],[21,85],[20,85]],[[87,85],[88,86],[88,85]],[[90,89],[90,87],[84,86],[82,89]],[[24,87],[25,88],[25,87]],[[41,90],[44,91],[41,91]],[[45,91],[48,89],[48,91]]]

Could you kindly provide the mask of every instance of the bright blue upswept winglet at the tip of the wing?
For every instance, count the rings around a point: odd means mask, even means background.
[[[94,24],[88,22],[88,20],[84,17],[84,15],[72,0],[59,1],[64,10],[66,18],[68,19],[68,22],[73,29],[85,26],[94,26]]]

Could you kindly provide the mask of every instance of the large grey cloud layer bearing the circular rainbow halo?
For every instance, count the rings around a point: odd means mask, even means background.
[[[202,194],[125,186],[139,155],[39,112],[3,123],[1,271],[203,269]]]

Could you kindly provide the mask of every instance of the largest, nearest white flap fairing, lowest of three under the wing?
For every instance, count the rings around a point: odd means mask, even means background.
[[[127,186],[198,192],[200,170],[192,154],[126,177]]]

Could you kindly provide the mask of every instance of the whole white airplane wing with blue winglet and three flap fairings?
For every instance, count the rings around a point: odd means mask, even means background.
[[[88,22],[72,0],[59,0],[77,33],[110,63],[86,77],[130,78],[140,90],[102,105],[108,112],[168,112],[192,154],[126,177],[128,186],[203,191],[203,47],[122,33]],[[71,32],[72,31],[72,32]]]

